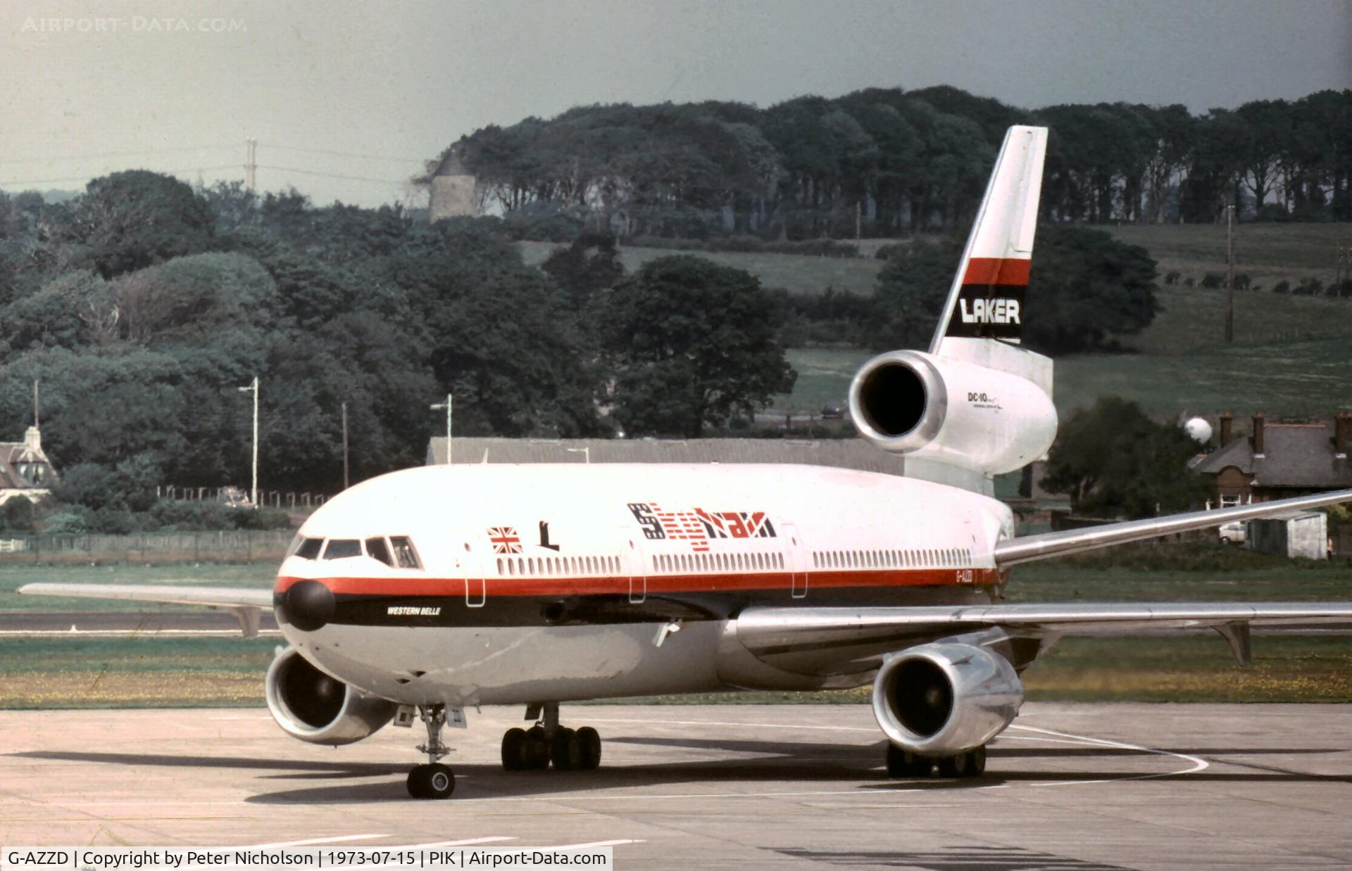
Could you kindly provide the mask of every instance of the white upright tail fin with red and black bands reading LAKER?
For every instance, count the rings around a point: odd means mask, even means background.
[[[930,354],[991,365],[990,344],[1022,342],[1045,155],[1045,127],[1010,127],[1005,134]],[[987,347],[967,347],[973,340]]]

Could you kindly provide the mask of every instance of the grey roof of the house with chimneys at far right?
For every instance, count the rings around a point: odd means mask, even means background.
[[[1253,454],[1251,438],[1241,436],[1194,466],[1194,471],[1220,474],[1234,466],[1265,487],[1348,487],[1352,463],[1333,452],[1333,433],[1326,424],[1267,424],[1263,456]]]

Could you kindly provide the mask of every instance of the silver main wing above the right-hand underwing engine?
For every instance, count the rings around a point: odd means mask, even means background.
[[[748,608],[735,624],[737,639],[756,656],[779,660],[790,668],[825,666],[833,672],[876,667],[884,652],[982,629],[1002,629],[1011,639],[1044,640],[1215,629],[1230,643],[1236,659],[1248,664],[1251,627],[1286,632],[1352,631],[1352,601],[776,606]]]

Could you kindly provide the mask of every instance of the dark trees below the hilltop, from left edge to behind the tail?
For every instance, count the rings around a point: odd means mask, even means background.
[[[460,435],[745,433],[792,389],[790,344],[923,347],[959,255],[900,244],[873,297],[791,297],[688,254],[626,273],[610,234],[531,267],[515,238],[498,217],[427,224],[145,170],[62,203],[0,194],[3,435],[28,425],[39,381],[58,496],[122,531],[170,516],[149,513],[157,485],[247,479],[256,375],[273,490],[341,487],[345,405],[353,481],[420,463],[446,393]],[[1038,263],[1036,348],[1102,347],[1153,316],[1141,248],[1049,227]]]

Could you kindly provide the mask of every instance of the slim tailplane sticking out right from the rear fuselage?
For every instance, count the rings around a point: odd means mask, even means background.
[[[1271,502],[1255,502],[1252,505],[1236,505],[1234,508],[1217,508],[1214,510],[1198,510],[1187,514],[1169,514],[1168,517],[1148,517],[1145,520],[1126,520],[1122,523],[1109,523],[1102,527],[1088,527],[1086,529],[1067,529],[1064,532],[1044,532],[1041,535],[1025,535],[1017,539],[1006,539],[995,546],[995,564],[999,567],[1026,563],[1034,559],[1048,559],[1063,554],[1091,551],[1111,544],[1125,544],[1126,542],[1141,542],[1161,535],[1175,532],[1190,532],[1192,529],[1206,529],[1236,520],[1253,520],[1256,517],[1271,517],[1288,510],[1307,508],[1321,508],[1338,502],[1352,502],[1352,490],[1333,490],[1315,496],[1299,496],[1290,500],[1272,500]]]

